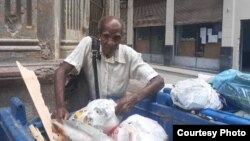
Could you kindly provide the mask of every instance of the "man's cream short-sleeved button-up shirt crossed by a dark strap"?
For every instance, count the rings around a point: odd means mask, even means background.
[[[64,60],[73,65],[79,73],[84,70],[89,83],[91,96],[95,98],[94,71],[92,65],[92,39],[84,37],[73,52]],[[100,97],[122,97],[127,89],[130,79],[137,79],[147,84],[158,73],[145,63],[140,53],[127,45],[119,44],[115,55],[106,58],[102,54],[101,60],[97,60],[97,73]]]

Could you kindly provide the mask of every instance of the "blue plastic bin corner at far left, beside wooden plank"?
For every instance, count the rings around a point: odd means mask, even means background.
[[[23,103],[11,98],[10,107],[0,108],[1,141],[35,141],[28,129]]]

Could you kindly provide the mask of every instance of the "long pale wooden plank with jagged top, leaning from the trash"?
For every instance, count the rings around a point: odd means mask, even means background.
[[[52,122],[50,118],[50,113],[48,107],[44,103],[39,81],[34,71],[28,70],[27,68],[23,67],[18,61],[16,61],[16,64],[26,84],[31,99],[36,107],[38,115],[42,120],[44,129],[49,137],[49,140],[53,141],[54,139],[52,133]]]

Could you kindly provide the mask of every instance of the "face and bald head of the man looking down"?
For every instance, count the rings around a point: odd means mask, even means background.
[[[117,20],[111,20],[103,25],[103,31],[100,34],[102,52],[110,58],[114,55],[118,45],[121,42],[122,26]]]

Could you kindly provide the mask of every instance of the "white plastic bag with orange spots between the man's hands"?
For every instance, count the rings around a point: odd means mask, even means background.
[[[112,99],[96,99],[76,111],[70,120],[77,120],[108,133],[119,124],[115,115],[116,103]]]

